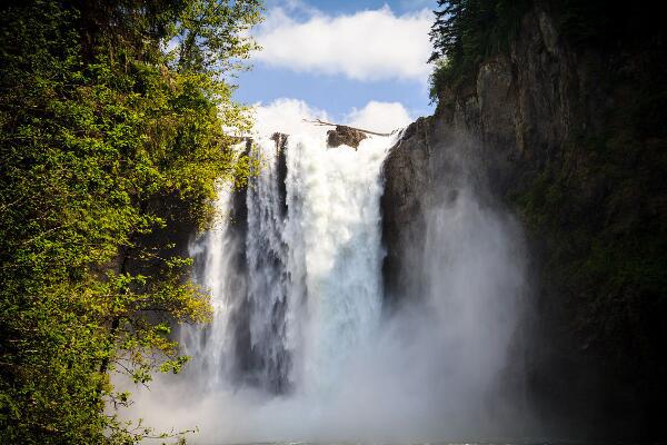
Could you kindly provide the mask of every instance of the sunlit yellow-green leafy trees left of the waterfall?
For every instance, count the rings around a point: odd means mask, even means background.
[[[189,260],[155,234],[176,217],[206,227],[217,182],[252,168],[226,132],[251,123],[227,79],[256,48],[243,36],[259,8],[3,4],[0,442],[155,434],[119,419],[131,400],[109,375],[179,372],[170,326],[210,316]]]

